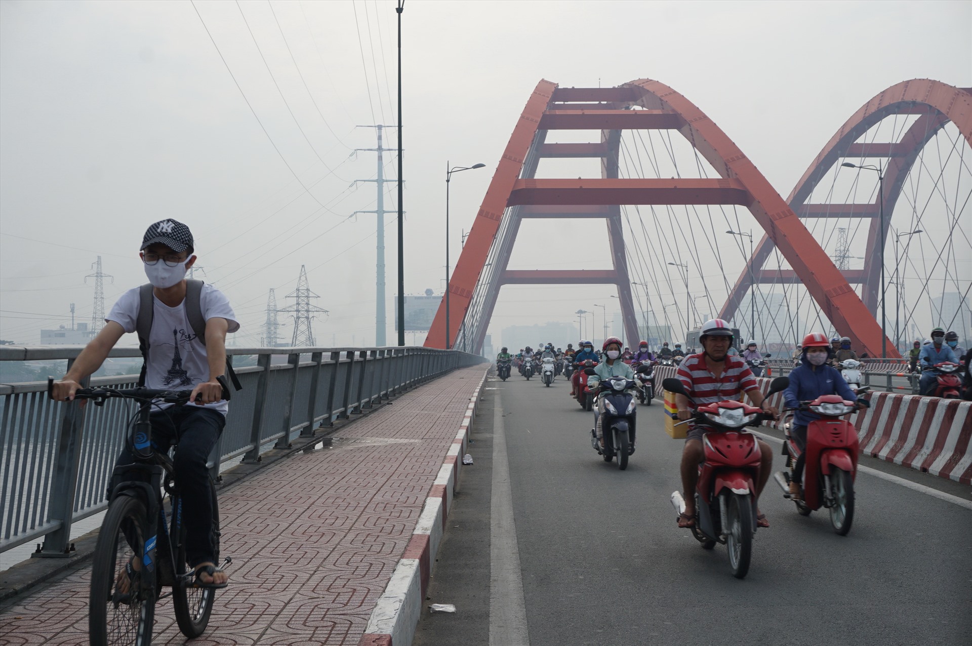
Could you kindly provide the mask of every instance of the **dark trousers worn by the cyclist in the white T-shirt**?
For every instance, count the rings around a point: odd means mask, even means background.
[[[215,547],[211,536],[213,502],[209,493],[209,469],[206,468],[206,461],[220,439],[226,417],[223,413],[194,405],[171,406],[152,413],[150,421],[152,443],[156,450],[178,446],[173,466],[176,486],[182,493],[183,500],[186,560],[193,567],[207,561],[214,562]],[[134,461],[125,447],[115,464],[123,466]],[[108,486],[109,495],[117,484],[115,478],[112,478],[112,483]]]

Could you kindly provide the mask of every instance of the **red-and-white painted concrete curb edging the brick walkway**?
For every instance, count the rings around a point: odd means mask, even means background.
[[[410,646],[412,643],[422,616],[422,603],[429,588],[435,555],[442,542],[445,521],[452,507],[453,496],[459,491],[462,457],[469,448],[469,432],[475,419],[479,392],[488,374],[487,371],[483,375],[469,397],[463,423],[442,461],[412,538],[392,573],[392,579],[371,611],[359,646]]]

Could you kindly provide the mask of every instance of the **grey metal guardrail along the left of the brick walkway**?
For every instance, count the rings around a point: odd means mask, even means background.
[[[81,350],[0,346],[0,361],[68,359],[70,367]],[[330,426],[376,401],[485,361],[421,347],[232,348],[227,355],[255,355],[257,365],[235,369],[243,390],[233,393],[226,427],[210,456],[214,476],[226,460],[242,456],[258,462],[266,450],[312,436],[318,424]],[[139,356],[134,348],[110,355]],[[286,362],[273,362],[281,356]],[[132,388],[137,379],[98,377],[85,386]],[[46,382],[0,385],[0,553],[43,536],[36,556],[68,555],[71,525],[107,506],[105,491],[134,411],[121,400],[84,408],[54,402]]]

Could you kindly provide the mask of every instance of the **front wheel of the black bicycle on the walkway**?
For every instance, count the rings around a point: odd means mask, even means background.
[[[130,578],[125,573],[126,563],[142,563],[147,524],[145,505],[131,496],[120,495],[108,507],[91,562],[87,630],[93,646],[152,643],[156,591],[143,590],[139,570]]]

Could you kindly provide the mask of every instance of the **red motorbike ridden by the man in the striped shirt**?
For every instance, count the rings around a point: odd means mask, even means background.
[[[777,377],[767,396],[789,386],[789,379]],[[681,382],[666,379],[666,391],[685,394]],[[695,525],[689,527],[702,547],[711,550],[716,543],[728,548],[733,576],[742,579],[752,558],[752,539],[756,533],[756,487],[762,453],[756,436],[746,426],[758,426],[773,416],[741,401],[717,401],[698,407],[692,420],[706,427],[702,446],[705,459],[699,464],[695,486]],[[687,424],[679,422],[678,424]],[[685,511],[680,492],[671,496],[677,514]]]

